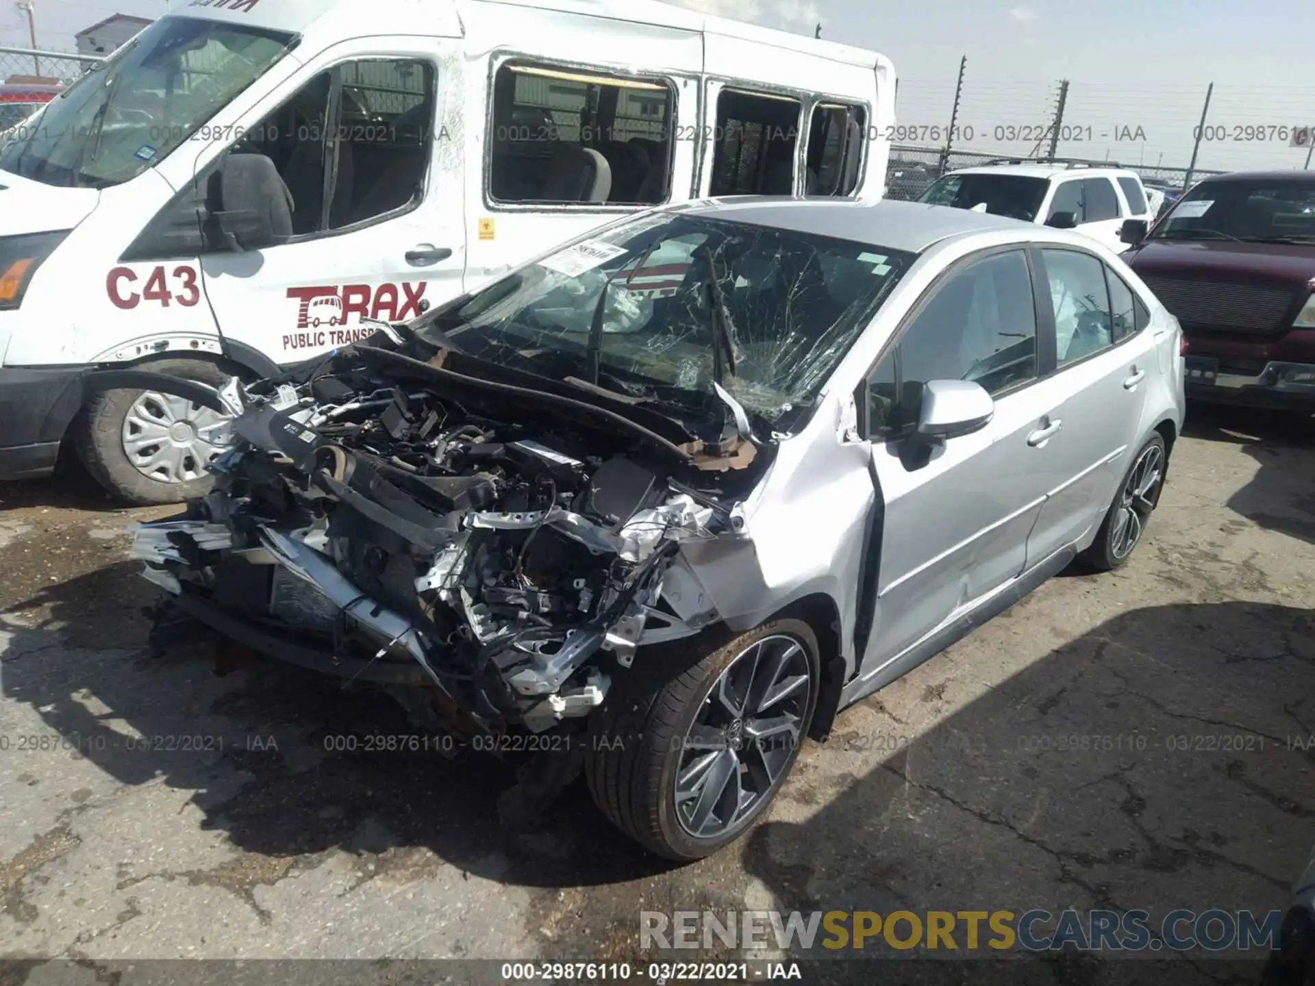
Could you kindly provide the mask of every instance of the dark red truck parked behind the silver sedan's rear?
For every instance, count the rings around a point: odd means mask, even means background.
[[[1190,398],[1315,413],[1315,171],[1208,177],[1123,234],[1182,323]]]

